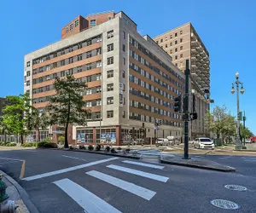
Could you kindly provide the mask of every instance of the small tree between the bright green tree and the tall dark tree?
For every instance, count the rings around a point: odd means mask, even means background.
[[[40,141],[40,129],[45,130],[49,124],[49,118],[46,112],[40,113],[37,108],[32,107],[31,111],[31,130],[36,130],[38,133],[38,141]]]

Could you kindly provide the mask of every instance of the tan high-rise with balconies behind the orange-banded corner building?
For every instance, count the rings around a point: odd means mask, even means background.
[[[191,89],[195,89],[196,112],[198,119],[191,122],[190,137],[208,135],[204,117],[209,109],[210,101],[205,97],[205,89],[210,90],[209,53],[191,23],[154,37],[167,54],[172,56],[172,63],[184,72],[186,60],[189,59],[191,71]]]

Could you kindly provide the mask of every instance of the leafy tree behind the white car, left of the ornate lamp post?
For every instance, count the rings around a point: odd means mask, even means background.
[[[225,106],[216,106],[212,112],[207,112],[205,124],[209,131],[216,134],[217,138],[220,138],[220,135],[223,135],[223,138],[230,138],[236,133],[235,118],[230,115],[228,108]]]

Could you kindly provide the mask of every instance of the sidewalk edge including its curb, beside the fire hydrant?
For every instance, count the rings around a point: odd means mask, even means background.
[[[37,208],[32,204],[26,191],[20,187],[20,184],[13,178],[5,174],[0,170],[0,174],[3,174],[3,181],[6,184],[6,193],[9,195],[8,200],[15,201],[15,205],[18,206],[16,209],[17,213],[38,213]],[[25,204],[26,203],[26,204]],[[29,209],[29,210],[28,210]]]

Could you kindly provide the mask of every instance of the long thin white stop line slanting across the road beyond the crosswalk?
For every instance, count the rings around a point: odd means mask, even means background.
[[[59,174],[62,174],[62,173],[68,172],[68,171],[83,169],[83,168],[89,167],[91,165],[106,163],[108,161],[115,160],[115,159],[118,159],[118,158],[114,157],[114,158],[107,158],[107,159],[97,160],[97,161],[94,161],[94,162],[90,162],[88,164],[81,164],[81,165],[69,167],[69,168],[66,168],[66,169],[63,169],[63,170],[55,170],[55,171],[46,172],[46,173],[43,173],[43,174],[40,174],[40,175],[37,175],[37,176],[29,176],[29,177],[23,178],[22,180],[23,181],[33,181],[33,180],[37,180],[37,179],[47,177],[47,176],[55,176],[55,175],[59,175]]]

